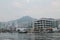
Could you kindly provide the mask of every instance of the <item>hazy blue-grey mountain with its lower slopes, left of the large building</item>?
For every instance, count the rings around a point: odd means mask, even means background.
[[[32,22],[34,20],[37,20],[35,18],[32,18],[30,16],[23,16],[22,18],[8,21],[8,22],[0,22],[1,28],[7,28],[7,27],[31,27]]]

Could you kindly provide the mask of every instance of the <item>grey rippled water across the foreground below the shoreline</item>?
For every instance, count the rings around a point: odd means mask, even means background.
[[[60,33],[0,33],[0,40],[60,40]]]

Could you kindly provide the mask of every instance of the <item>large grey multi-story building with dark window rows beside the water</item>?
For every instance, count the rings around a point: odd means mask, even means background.
[[[40,20],[34,21],[33,28],[49,28],[49,27],[58,27],[57,21],[52,18],[41,18]]]

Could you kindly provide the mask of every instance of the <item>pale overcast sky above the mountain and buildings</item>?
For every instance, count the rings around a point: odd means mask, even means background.
[[[60,0],[0,0],[0,21],[23,16],[60,18]]]

